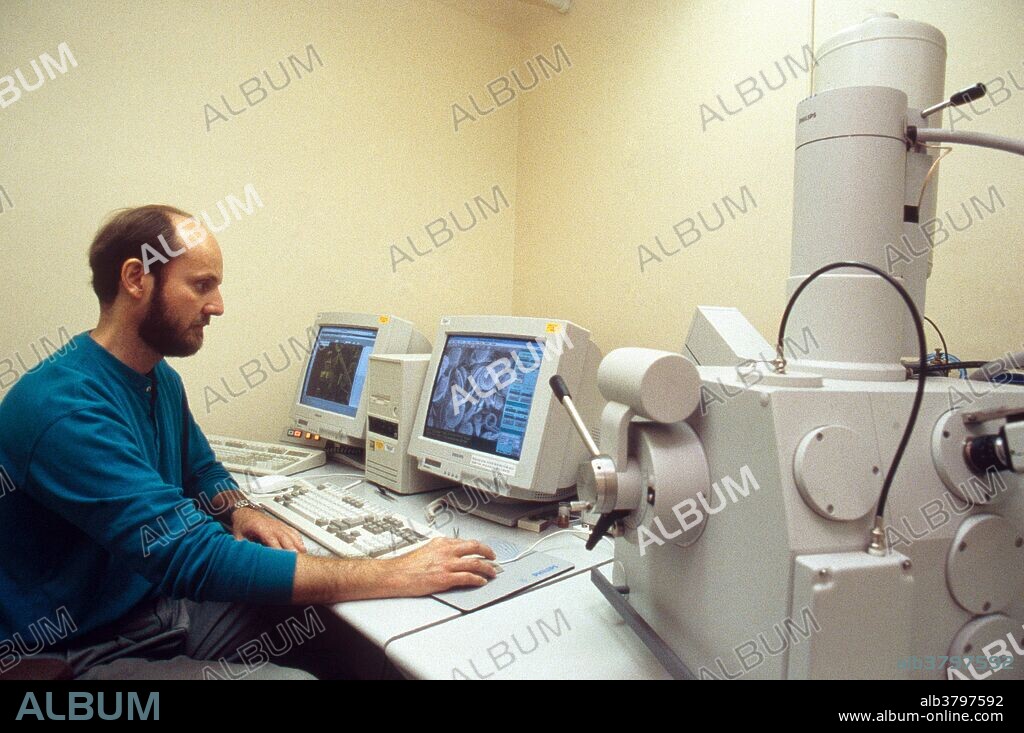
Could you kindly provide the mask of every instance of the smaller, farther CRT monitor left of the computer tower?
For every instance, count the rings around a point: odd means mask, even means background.
[[[331,440],[361,447],[370,355],[429,353],[430,344],[408,320],[370,313],[319,313],[310,337],[286,438],[306,445]]]

